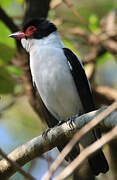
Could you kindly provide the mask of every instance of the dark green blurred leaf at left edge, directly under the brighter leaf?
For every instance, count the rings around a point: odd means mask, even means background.
[[[15,49],[0,43],[0,66],[11,61],[15,54]]]

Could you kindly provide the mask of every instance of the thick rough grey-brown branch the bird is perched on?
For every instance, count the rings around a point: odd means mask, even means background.
[[[74,127],[70,127],[70,122],[66,122],[61,126],[53,128],[48,132],[46,138],[44,138],[43,136],[39,136],[32,139],[31,141],[23,144],[22,146],[11,152],[8,155],[8,158],[18,163],[19,166],[23,166],[32,159],[42,155],[44,152],[47,152],[57,145],[60,145],[60,143],[63,143],[64,141],[70,139],[77,130],[79,130],[105,109],[107,108],[103,107],[97,111],[93,111],[80,117],[76,117],[73,123]],[[93,127],[95,125],[96,124],[93,124]],[[117,125],[117,112],[113,112],[112,114],[110,114],[101,125],[107,128],[112,128],[114,125]],[[84,135],[84,130],[82,131],[82,134]],[[0,161],[1,179],[5,179],[6,177],[9,178],[15,172],[16,169],[14,169],[11,164],[9,164],[5,159]]]

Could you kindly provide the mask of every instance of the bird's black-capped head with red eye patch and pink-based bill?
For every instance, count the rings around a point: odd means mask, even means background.
[[[9,35],[15,39],[42,39],[56,31],[56,26],[46,19],[32,19],[27,22],[21,31]]]

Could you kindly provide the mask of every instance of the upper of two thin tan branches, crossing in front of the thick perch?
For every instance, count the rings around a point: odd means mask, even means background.
[[[79,142],[79,140],[82,138],[82,136],[84,136],[84,134],[86,134],[89,130],[91,130],[94,126],[96,126],[99,122],[101,122],[104,118],[106,118],[116,108],[117,108],[117,102],[113,103],[105,111],[103,111],[99,115],[97,115],[91,122],[89,122],[86,125],[83,125],[82,129],[76,132],[76,134],[73,136],[71,141],[65,146],[65,148],[61,151],[60,155],[57,157],[57,159],[51,165],[49,171],[45,175],[44,180],[48,180],[52,176],[53,172],[61,164],[61,162],[63,161],[65,156],[71,151],[73,146],[77,142]],[[84,122],[84,121],[82,120],[81,122]],[[88,134],[86,134],[86,136],[88,136]],[[89,143],[87,145],[85,145],[85,147],[87,147],[88,145],[89,145]]]

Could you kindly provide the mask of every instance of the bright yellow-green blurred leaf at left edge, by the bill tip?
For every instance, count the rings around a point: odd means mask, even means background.
[[[10,30],[8,29],[8,27],[0,22],[0,43],[6,44],[12,48],[15,48],[15,41],[14,39],[11,39],[8,37],[9,34],[11,34]]]

